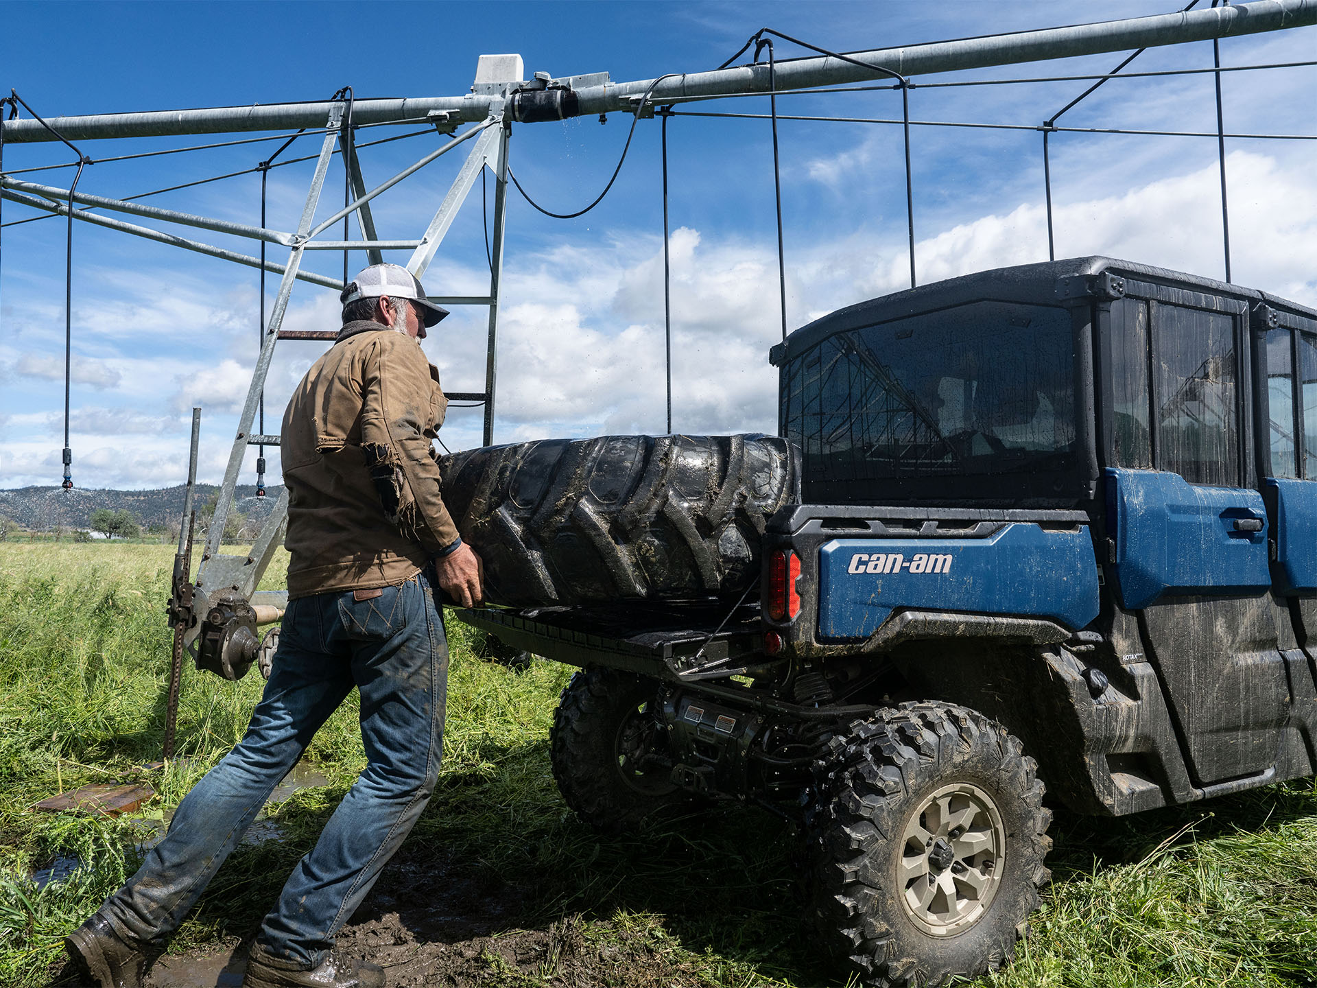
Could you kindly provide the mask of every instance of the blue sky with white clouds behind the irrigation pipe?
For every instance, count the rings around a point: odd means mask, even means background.
[[[761,26],[831,50],[1030,30],[1164,13],[1183,4],[1113,0],[977,3],[16,3],[5,4],[0,92],[11,87],[46,117],[184,107],[461,95],[483,53],[519,53],[525,72],[606,71],[616,82],[702,71]],[[33,43],[58,38],[58,46]],[[807,54],[786,42],[778,58]],[[1104,72],[1122,54],[917,78],[917,121],[1036,126],[1088,83],[936,87],[967,79]],[[1317,59],[1317,28],[1227,38],[1225,66]],[[1210,42],[1150,49],[1127,71],[1212,66]],[[921,86],[923,83],[923,86]],[[1223,119],[1233,133],[1317,134],[1317,67],[1229,72]],[[768,120],[690,111],[766,113],[763,96],[685,108],[668,124],[673,315],[673,428],[686,433],[776,429],[780,339],[772,134]],[[892,91],[782,95],[794,116],[898,119]],[[26,117],[26,113],[22,113]],[[1060,121],[1076,128],[1214,132],[1210,74],[1117,79]],[[572,212],[608,180],[630,119],[610,115],[514,128],[511,163],[545,208]],[[421,130],[417,133],[417,130]],[[424,128],[358,132],[367,186],[446,138]],[[901,128],[780,121],[786,320],[794,329],[835,308],[909,285]],[[87,141],[94,159],[258,134]],[[257,224],[252,169],[279,141],[86,167],[79,190],[128,196],[244,174],[154,196],[167,208]],[[315,154],[319,138],[282,157]],[[1227,140],[1234,281],[1317,306],[1317,169],[1312,141]],[[415,238],[460,167],[454,151],[375,200],[382,237]],[[1047,260],[1038,130],[913,128],[919,283]],[[4,169],[70,161],[61,145],[9,144]],[[312,162],[269,173],[269,225],[294,229]],[[510,194],[498,333],[497,443],[548,436],[664,432],[662,198],[660,124],[641,120],[616,183],[591,212],[553,220]],[[22,175],[67,187],[72,169]],[[1051,138],[1058,257],[1109,254],[1223,277],[1214,137],[1062,133]],[[342,204],[331,166],[319,217]],[[493,198],[493,180],[489,182]],[[11,202],[9,224],[38,215]],[[132,217],[125,217],[132,219]],[[151,225],[145,221],[145,225]],[[254,253],[250,241],[166,227]],[[353,227],[352,236],[357,236]],[[0,231],[0,487],[58,485],[63,447],[65,238],[62,219]],[[274,260],[284,248],[271,248]],[[392,254],[404,262],[407,253]],[[352,271],[365,263],[350,260]],[[342,256],[304,267],[342,275]],[[267,277],[273,300],[277,277]],[[479,186],[431,265],[431,294],[489,290]],[[188,423],[199,404],[200,478],[223,476],[259,339],[258,273],[87,224],[74,229],[70,445],[79,487],[159,487],[187,473]],[[335,329],[333,290],[299,282],[284,328]],[[454,308],[424,343],[445,390],[483,390],[487,314]],[[266,431],[277,432],[292,387],[325,344],[279,344],[267,379]],[[452,407],[450,449],[481,444],[479,408]],[[277,451],[267,451],[278,482]],[[242,482],[254,482],[249,451]]]

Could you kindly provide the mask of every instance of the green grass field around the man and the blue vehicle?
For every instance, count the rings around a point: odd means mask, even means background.
[[[61,788],[145,779],[159,818],[240,736],[261,680],[188,671],[182,759],[159,756],[171,565],[163,545],[0,544],[0,984],[42,985],[61,939],[136,868],[142,821],[28,809]],[[274,585],[282,578],[279,561]],[[400,859],[499,889],[514,906],[489,934],[544,930],[601,959],[568,976],[553,950],[533,970],[475,958],[469,984],[815,985],[832,981],[801,922],[788,825],[724,809],[601,839],[553,786],[548,728],[570,669],[525,673],[477,659],[449,626],[452,674],[444,771]],[[242,846],[171,951],[249,934],[294,860],[315,840],[363,764],[353,700],[308,757],[331,785],[279,804],[283,840]],[[1058,813],[1055,883],[1015,963],[986,979],[1025,985],[1314,985],[1317,792],[1271,786],[1121,821]],[[83,865],[37,891],[34,868]],[[400,873],[400,872],[399,872]],[[391,872],[377,888],[387,891]],[[479,885],[479,883],[486,883]],[[499,926],[506,929],[499,929]],[[570,931],[566,937],[564,931]],[[557,939],[554,939],[557,938]],[[582,947],[581,945],[585,945]],[[470,977],[470,972],[468,972]]]

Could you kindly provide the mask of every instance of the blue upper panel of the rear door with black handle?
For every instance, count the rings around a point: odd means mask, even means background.
[[[1177,473],[1108,469],[1115,574],[1130,610],[1162,595],[1255,594],[1271,586],[1262,494],[1204,487]],[[1262,531],[1234,530],[1260,519]]]

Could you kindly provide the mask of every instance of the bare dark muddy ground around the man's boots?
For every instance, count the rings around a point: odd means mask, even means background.
[[[406,848],[338,934],[338,947],[387,972],[390,988],[483,988],[561,984],[572,988],[684,988],[709,984],[689,960],[656,948],[652,935],[624,923],[585,925],[566,916],[524,922],[527,889],[487,869],[454,862],[410,860]],[[533,922],[533,921],[532,921]],[[254,937],[166,955],[151,988],[238,988]],[[51,988],[80,981],[67,966]]]

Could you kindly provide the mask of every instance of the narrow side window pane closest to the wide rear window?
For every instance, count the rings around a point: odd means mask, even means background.
[[[1112,331],[1106,337],[1106,371],[1110,381],[1112,466],[1152,466],[1152,436],[1148,431],[1148,304],[1141,299],[1112,303]]]

